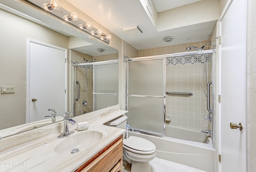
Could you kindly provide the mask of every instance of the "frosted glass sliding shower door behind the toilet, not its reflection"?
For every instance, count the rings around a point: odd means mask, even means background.
[[[130,128],[164,135],[165,58],[128,59],[126,65]]]

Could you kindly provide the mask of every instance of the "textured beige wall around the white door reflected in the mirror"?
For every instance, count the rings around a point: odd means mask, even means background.
[[[26,123],[27,38],[68,49],[68,37],[4,10],[0,16],[0,86],[15,86],[15,93],[0,94],[3,129]]]

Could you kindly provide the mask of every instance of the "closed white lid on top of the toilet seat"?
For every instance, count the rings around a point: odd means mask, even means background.
[[[156,146],[152,142],[136,136],[130,136],[128,139],[126,139],[124,145],[139,151],[148,152],[156,149]]]

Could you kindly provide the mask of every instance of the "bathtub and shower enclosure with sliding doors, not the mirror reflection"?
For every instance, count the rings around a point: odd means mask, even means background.
[[[128,133],[158,158],[214,172],[215,50],[198,50],[125,60]]]

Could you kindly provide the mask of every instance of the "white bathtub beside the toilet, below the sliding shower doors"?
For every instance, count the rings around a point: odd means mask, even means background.
[[[212,147],[211,144],[131,131],[128,132],[128,136],[138,136],[154,143],[158,158],[206,172],[215,172],[215,150],[210,148]]]

